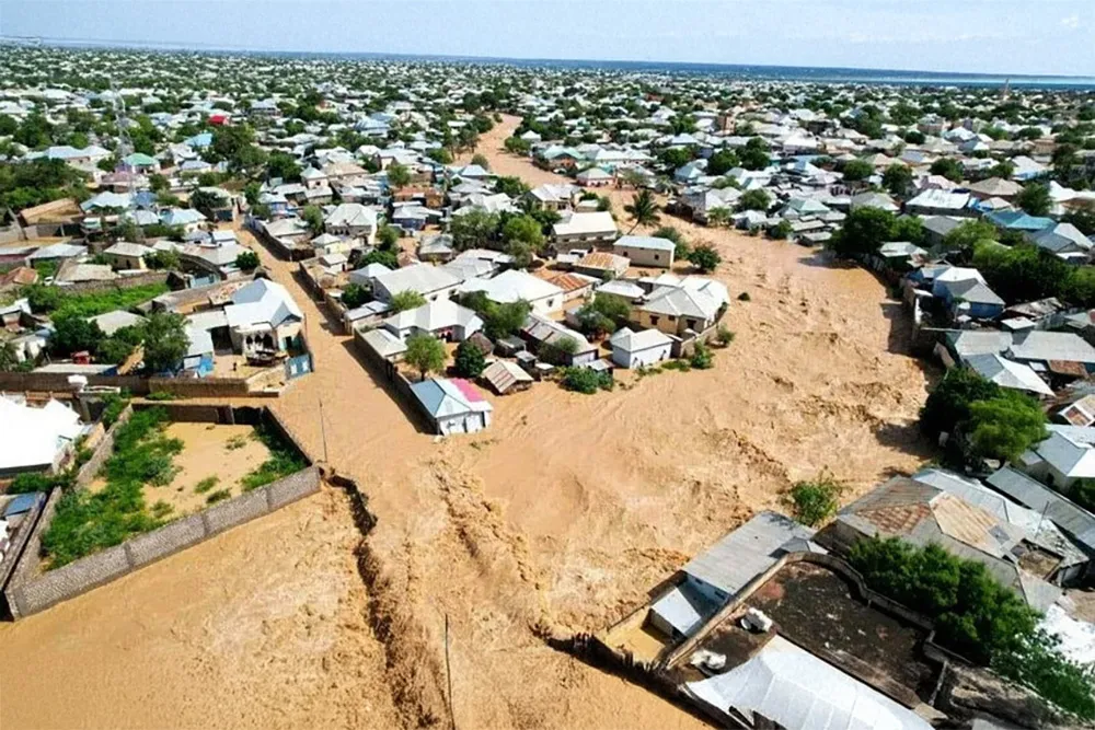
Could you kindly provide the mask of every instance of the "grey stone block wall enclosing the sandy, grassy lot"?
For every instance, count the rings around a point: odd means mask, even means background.
[[[15,566],[13,577],[4,588],[4,599],[13,618],[44,611],[61,601],[108,583],[150,563],[196,545],[229,528],[269,514],[286,505],[320,489],[320,467],[314,465],[303,445],[288,427],[268,408],[206,406],[178,403],[139,404],[123,412],[118,421],[106,432],[95,452],[81,467],[77,484],[87,485],[95,477],[103,462],[114,450],[114,436],[134,408],[159,407],[176,421],[214,424],[265,424],[291,444],[309,466],[289,476],[220,502],[196,514],[171,522],[158,530],[132,537],[69,565],[39,573],[42,535],[57,511],[61,490],[54,489],[46,501],[42,518],[26,541],[26,548]]]

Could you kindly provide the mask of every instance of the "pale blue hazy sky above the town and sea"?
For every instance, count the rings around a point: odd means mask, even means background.
[[[1095,0],[0,0],[0,35],[1095,77]]]

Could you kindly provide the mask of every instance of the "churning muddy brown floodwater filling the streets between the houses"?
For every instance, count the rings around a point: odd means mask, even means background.
[[[500,174],[558,181],[500,151],[516,124],[480,151]],[[630,198],[611,195],[618,210]],[[331,463],[368,493],[379,523],[359,564],[345,505],[323,495],[2,627],[3,728],[441,725],[446,615],[460,728],[700,727],[545,638],[621,617],[796,479],[829,470],[851,500],[914,470],[929,375],[871,274],[666,222],[718,246],[714,276],[750,294],[731,302],[737,338],[714,369],[595,396],[539,384],[492,397],[489,430],[442,443],[261,251],[316,363],[274,407],[313,453],[325,430]]]

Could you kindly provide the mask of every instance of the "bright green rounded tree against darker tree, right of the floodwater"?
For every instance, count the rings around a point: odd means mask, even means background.
[[[969,439],[973,453],[984,459],[1015,461],[1042,441],[1046,414],[1033,398],[1017,391],[970,404]]]

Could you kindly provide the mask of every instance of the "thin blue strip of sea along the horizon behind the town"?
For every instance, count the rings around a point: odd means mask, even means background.
[[[97,48],[105,50],[147,50],[153,53],[187,51],[208,55],[230,55],[246,54],[252,56],[278,56],[293,54],[299,56],[339,57],[339,56],[361,56],[377,59],[410,59],[410,60],[439,60],[439,61],[462,61],[462,62],[489,62],[489,63],[568,63],[568,65],[598,65],[631,63],[670,67],[717,67],[717,68],[753,68],[753,69],[816,69],[819,71],[853,71],[853,72],[875,72],[875,73],[903,73],[923,74],[925,77],[965,77],[969,79],[1054,79],[1062,81],[1093,81],[1095,74],[1077,76],[1061,73],[1011,73],[1006,71],[932,71],[926,69],[896,69],[896,68],[871,68],[856,66],[784,66],[779,63],[749,63],[729,61],[672,61],[655,59],[609,59],[609,58],[539,58],[518,56],[476,56],[464,54],[419,54],[399,53],[383,50],[302,50],[291,48],[245,48],[242,46],[231,47],[218,44],[203,44],[197,42],[173,43],[165,40],[125,40],[119,38],[80,38],[59,36],[25,36],[25,35],[0,35],[0,46],[25,46],[25,47],[50,47],[61,48],[66,46],[77,48]]]

